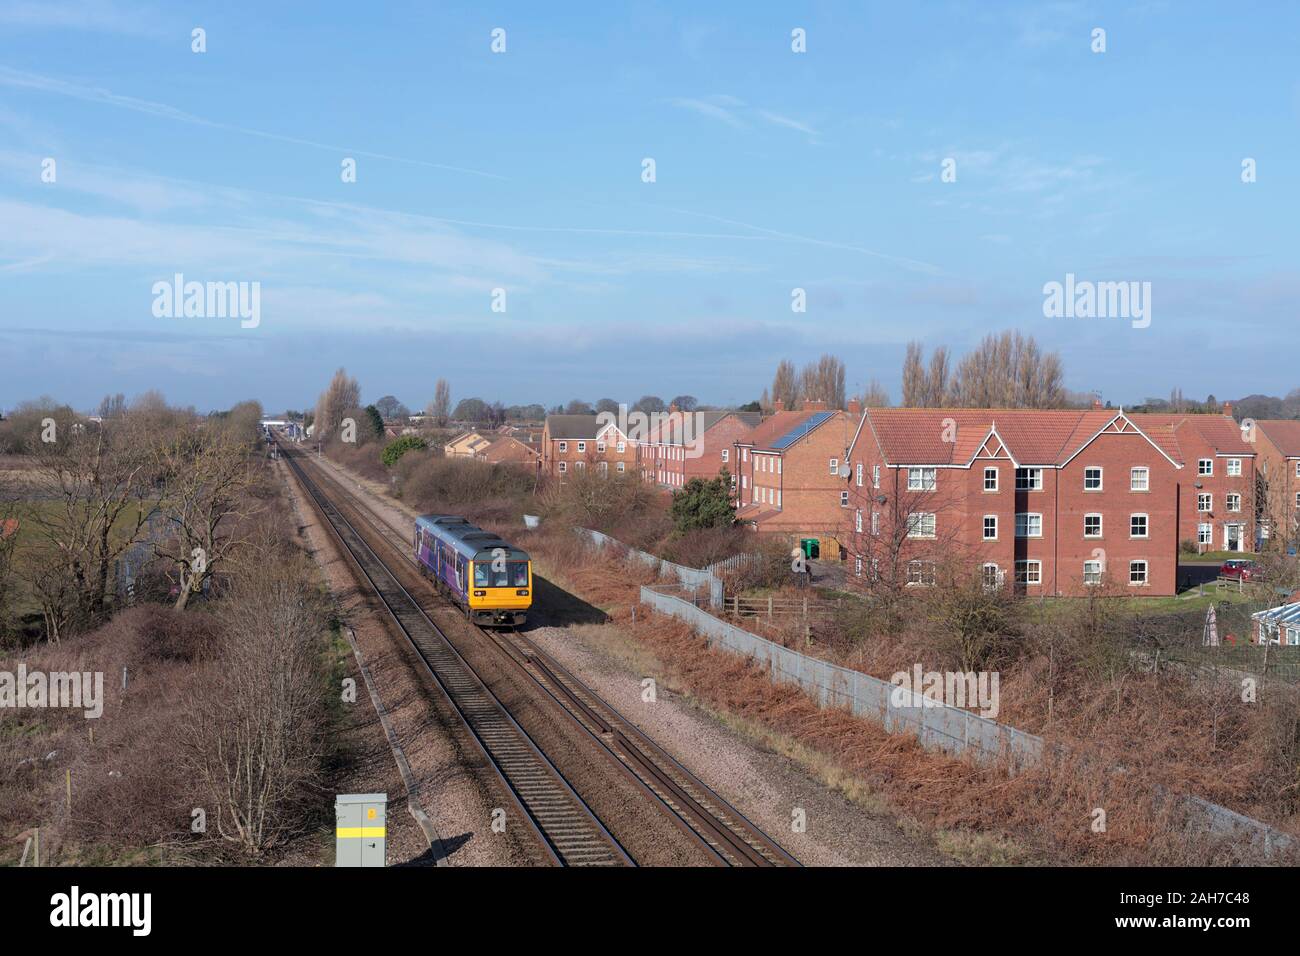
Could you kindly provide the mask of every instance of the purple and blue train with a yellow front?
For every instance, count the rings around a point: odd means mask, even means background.
[[[476,624],[521,627],[533,606],[528,553],[459,515],[415,522],[415,561]]]

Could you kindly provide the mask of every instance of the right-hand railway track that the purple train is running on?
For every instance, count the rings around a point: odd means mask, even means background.
[[[299,472],[302,471],[302,466],[296,462],[294,467]],[[347,494],[355,505],[356,516],[369,525],[406,564],[416,568],[415,561],[408,553],[406,536],[399,535],[369,505],[363,502],[360,496],[344,489],[341,481],[335,479],[325,479],[325,481]],[[367,550],[369,550],[368,545]],[[370,553],[373,554],[373,551]],[[517,630],[495,631],[480,628],[469,622],[464,622],[464,624],[472,627],[476,633],[495,646],[514,666],[523,670],[540,685],[571,721],[636,782],[649,801],[667,813],[682,834],[706,849],[715,864],[724,866],[800,865],[776,840],[746,819],[744,814],[655,744],[634,723],[624,718],[592,688],[564,669],[536,641]],[[448,646],[451,644],[446,639],[445,643]]]

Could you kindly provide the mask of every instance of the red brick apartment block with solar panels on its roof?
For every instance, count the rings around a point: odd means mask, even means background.
[[[842,557],[840,475],[858,419],[850,411],[807,402],[802,411],[777,411],[736,441],[736,516],[792,544],[818,541],[820,557]]]

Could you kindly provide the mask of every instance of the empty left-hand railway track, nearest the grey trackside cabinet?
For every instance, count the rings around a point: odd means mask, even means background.
[[[283,447],[283,446],[281,446]],[[634,862],[592,809],[488,689],[442,630],[370,549],[358,529],[307,476],[296,455],[283,455],[334,537],[407,637],[433,682],[460,715],[494,767],[516,809],[554,862],[566,866],[632,866]]]

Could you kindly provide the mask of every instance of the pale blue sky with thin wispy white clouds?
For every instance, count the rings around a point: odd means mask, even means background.
[[[0,0],[0,408],[732,403],[823,352],[898,401],[1004,329],[1117,405],[1283,394],[1297,51],[1280,0]],[[1147,317],[1045,316],[1067,276]]]

